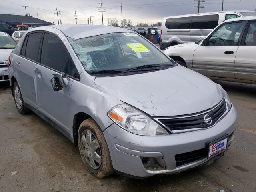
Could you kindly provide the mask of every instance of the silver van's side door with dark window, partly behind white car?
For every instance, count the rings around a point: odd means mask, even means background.
[[[193,16],[191,22],[190,41],[195,42],[202,40],[212,29],[218,26],[219,15],[201,15]]]

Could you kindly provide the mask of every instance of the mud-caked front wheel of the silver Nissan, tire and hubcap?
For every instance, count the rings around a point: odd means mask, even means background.
[[[78,147],[82,161],[92,175],[103,178],[114,173],[108,145],[100,127],[92,118],[80,124]]]

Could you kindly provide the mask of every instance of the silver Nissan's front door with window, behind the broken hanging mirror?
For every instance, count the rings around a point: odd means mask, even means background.
[[[45,32],[43,35],[40,64],[36,66],[36,98],[38,109],[45,116],[64,128],[67,127],[69,115],[69,93],[73,82],[72,73],[76,71],[70,54],[63,42],[55,34]],[[66,72],[70,77],[62,90],[54,91],[51,79],[60,77],[61,72]]]

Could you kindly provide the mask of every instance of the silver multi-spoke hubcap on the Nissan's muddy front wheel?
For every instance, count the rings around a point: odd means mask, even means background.
[[[93,169],[98,169],[101,165],[102,156],[97,138],[90,130],[82,133],[82,151],[86,162]]]

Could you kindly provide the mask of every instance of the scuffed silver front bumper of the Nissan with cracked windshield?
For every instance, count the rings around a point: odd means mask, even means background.
[[[148,177],[155,174],[172,174],[188,170],[207,163],[207,156],[194,162],[176,166],[175,155],[206,148],[206,142],[219,138],[225,134],[231,135],[236,129],[237,113],[234,106],[228,114],[215,126],[187,133],[140,136],[123,130],[112,124],[104,131],[106,142],[110,150],[112,164],[115,170],[136,177]],[[232,142],[234,134],[229,138]],[[162,166],[145,167],[143,157],[157,158]]]

